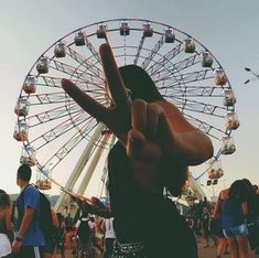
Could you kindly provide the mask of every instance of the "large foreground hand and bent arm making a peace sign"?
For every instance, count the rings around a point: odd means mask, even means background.
[[[112,107],[101,106],[68,79],[62,79],[62,86],[82,108],[117,136],[131,159],[149,163],[166,155],[188,165],[212,157],[211,140],[188,123],[175,106],[165,100],[130,101],[110,46],[102,44],[99,52]]]

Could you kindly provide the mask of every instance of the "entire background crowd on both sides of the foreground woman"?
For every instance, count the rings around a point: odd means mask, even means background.
[[[21,180],[28,184],[21,183]],[[37,190],[30,190],[35,186],[29,181],[30,166],[21,165],[18,170],[21,193],[25,189],[30,191],[30,198],[33,198],[32,193],[33,191],[36,193]],[[74,217],[53,212],[55,215],[52,222],[55,230],[46,239],[44,233],[40,233],[41,228],[36,219],[25,221],[26,213],[30,214],[30,212],[23,211],[21,221],[19,209],[12,208],[14,204],[10,196],[0,190],[0,257],[55,258],[60,255],[65,258],[67,254],[68,257],[115,257],[118,240],[110,206],[106,206],[98,198],[93,198],[91,204],[80,198],[76,201],[78,209]],[[33,206],[32,200],[23,202],[29,203],[28,208]],[[13,216],[17,216],[17,221],[13,221]],[[44,215],[40,214],[40,216]],[[194,204],[184,214],[184,218],[196,241],[202,241],[203,248],[209,247],[213,243],[217,258],[224,255],[229,255],[231,258],[247,258],[249,249],[259,254],[259,191],[258,186],[252,185],[247,179],[236,180],[229,189],[220,191],[217,203],[208,202],[205,197]],[[28,229],[21,229],[26,223]],[[252,229],[256,228],[255,225],[257,225],[256,230]],[[25,230],[24,235],[22,235],[23,230]],[[31,234],[33,234],[33,240]],[[175,257],[173,250],[172,256],[169,257]]]

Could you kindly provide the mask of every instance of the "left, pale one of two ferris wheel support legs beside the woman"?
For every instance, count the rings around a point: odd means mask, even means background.
[[[106,126],[104,123],[99,123],[97,126],[91,139],[89,140],[88,144],[86,146],[84,152],[82,153],[80,158],[78,159],[78,161],[76,163],[75,169],[73,170],[69,179],[67,180],[66,185],[65,185],[65,190],[72,191],[73,187],[75,186],[75,183],[77,182],[78,178],[82,174],[82,171],[84,170],[87,161],[90,158],[90,154],[93,152],[93,148],[95,147],[97,140],[99,139],[99,137],[105,128],[106,128]],[[65,192],[62,192],[60,197],[56,201],[56,204],[54,206],[54,211],[62,213],[68,201],[69,201],[69,195],[66,194]]]

